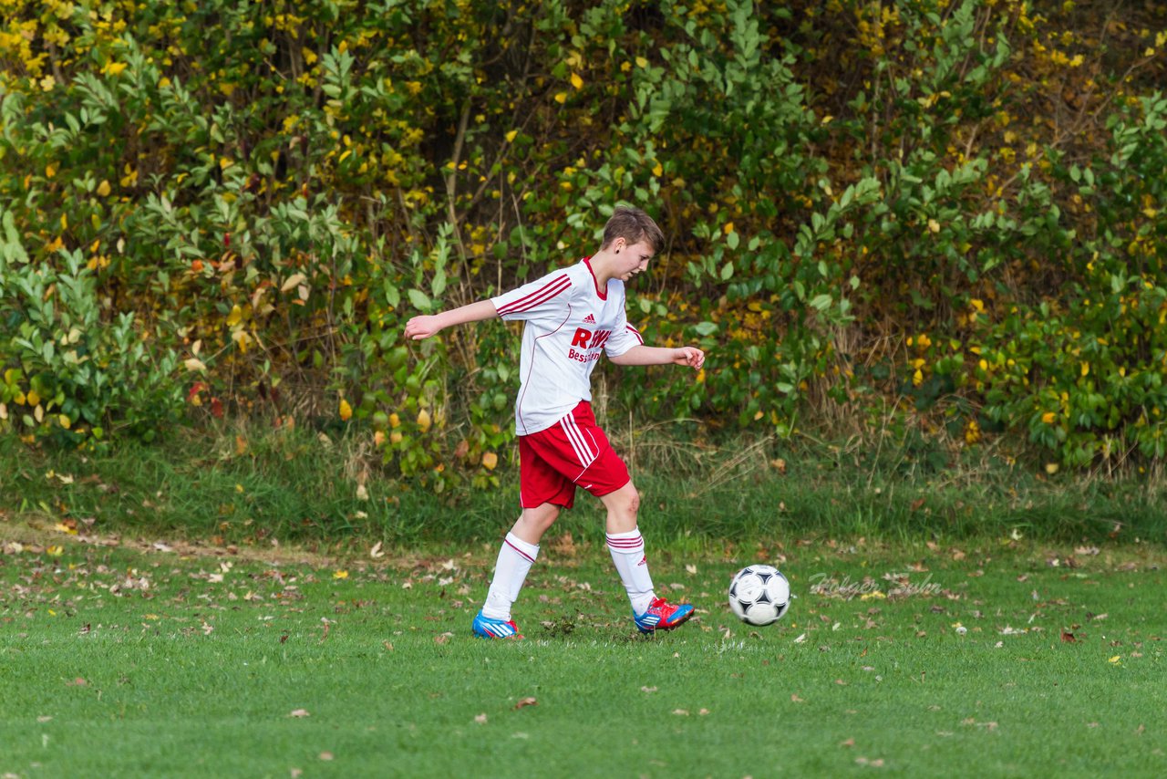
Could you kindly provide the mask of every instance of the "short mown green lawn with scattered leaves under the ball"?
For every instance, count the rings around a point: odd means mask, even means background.
[[[635,634],[599,543],[329,561],[0,522],[0,775],[1167,775],[1161,548],[651,550],[698,615]],[[798,596],[750,628],[738,568]],[[1054,564],[1056,563],[1056,565]]]

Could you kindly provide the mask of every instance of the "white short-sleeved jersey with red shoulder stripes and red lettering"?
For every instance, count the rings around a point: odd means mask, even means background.
[[[624,283],[610,279],[600,290],[588,258],[490,301],[503,319],[526,322],[515,401],[519,436],[546,430],[592,399],[601,350],[610,359],[644,343],[624,317]]]

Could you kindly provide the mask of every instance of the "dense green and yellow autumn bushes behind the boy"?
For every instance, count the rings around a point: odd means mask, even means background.
[[[1040,11],[12,0],[0,425],[261,411],[490,486],[515,334],[404,322],[591,252],[630,201],[668,239],[630,317],[710,362],[621,374],[621,410],[1142,467],[1167,14]]]

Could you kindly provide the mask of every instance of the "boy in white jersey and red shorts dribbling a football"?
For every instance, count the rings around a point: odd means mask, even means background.
[[[652,590],[644,540],[636,524],[640,495],[628,468],[608,444],[592,413],[591,375],[600,353],[620,366],[675,363],[700,370],[705,354],[694,347],[644,346],[624,318],[624,281],[648,267],[664,245],[656,222],[635,208],[617,208],[603,229],[603,243],[572,267],[489,300],[405,325],[407,339],[421,340],[452,325],[502,317],[525,320],[515,432],[519,451],[523,513],[498,552],[487,601],[475,615],[474,634],[485,639],[523,638],[511,605],[539,554],[539,540],[571,508],[580,486],[608,509],[608,550],[642,633],[672,630],[693,614]]]

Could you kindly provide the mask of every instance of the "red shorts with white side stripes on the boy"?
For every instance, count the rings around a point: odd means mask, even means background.
[[[546,430],[519,436],[518,462],[523,508],[544,503],[571,508],[576,485],[602,498],[630,481],[587,401]]]

